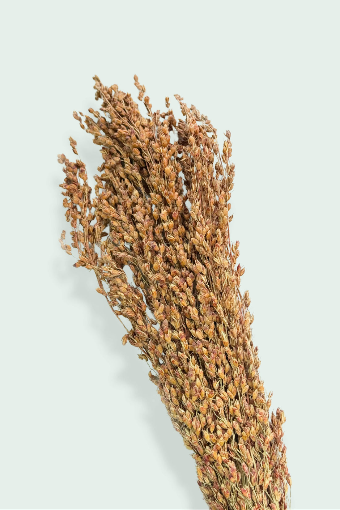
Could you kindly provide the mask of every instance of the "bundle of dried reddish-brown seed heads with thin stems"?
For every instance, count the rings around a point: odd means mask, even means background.
[[[145,88],[134,78],[142,101]],[[229,235],[230,133],[220,154],[210,120],[178,95],[185,120],[176,121],[168,97],[160,113],[146,96],[144,118],[130,94],[94,80],[100,112],[73,116],[101,147],[96,196],[82,161],[58,159],[71,244],[79,252],[74,266],[92,269],[97,291],[130,321],[123,344],[138,347],[151,364],[149,377],[173,426],[194,451],[209,508],[287,508],[285,417],[278,409],[269,419],[249,293],[240,293],[239,242]],[[65,231],[60,242],[71,254],[64,239]]]

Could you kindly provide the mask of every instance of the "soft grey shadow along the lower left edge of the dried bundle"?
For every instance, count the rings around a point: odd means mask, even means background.
[[[57,244],[59,244],[58,241]],[[139,349],[129,344],[125,347],[122,346],[120,340],[125,330],[114,314],[110,317],[110,309],[106,300],[95,292],[94,274],[84,268],[73,268],[73,258],[66,256],[62,250],[60,251],[60,257],[56,257],[55,260],[55,271],[60,285],[64,287],[72,300],[81,301],[88,325],[96,331],[96,337],[106,346],[108,355],[113,359],[117,357],[120,359],[121,369],[112,375],[112,388],[114,389],[115,382],[119,381],[125,387],[129,387],[129,392],[134,399],[142,403],[144,411],[141,419],[151,431],[158,450],[163,455],[166,464],[171,467],[178,485],[187,493],[188,508],[205,510],[207,505],[196,483],[195,462],[190,456],[190,451],[185,448],[180,435],[173,428],[165,406],[160,402],[160,395],[157,393],[156,387],[145,373],[143,364],[146,362],[138,359]],[[80,271],[83,274],[80,274]],[[154,398],[150,398],[150,385],[154,388]],[[164,441],[165,437],[166,441]],[[167,508],[166,506],[162,507]],[[169,510],[171,509],[169,508]]]

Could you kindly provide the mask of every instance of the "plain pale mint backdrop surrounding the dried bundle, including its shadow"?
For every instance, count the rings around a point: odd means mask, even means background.
[[[206,508],[147,364],[58,242],[72,117],[92,76],[154,109],[173,94],[230,130],[260,376],[285,411],[292,508],[336,509],[339,477],[338,2],[7,2],[1,8],[0,506]],[[141,104],[141,111],[144,107]],[[68,237],[69,240],[69,237]]]

